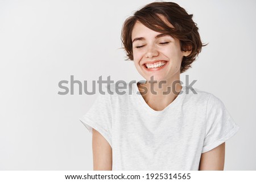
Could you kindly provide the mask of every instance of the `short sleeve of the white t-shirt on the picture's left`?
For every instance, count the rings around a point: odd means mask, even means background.
[[[86,126],[90,133],[92,129],[97,130],[112,147],[112,107],[110,94],[107,87],[102,87],[104,94],[97,96],[89,111],[79,120]]]

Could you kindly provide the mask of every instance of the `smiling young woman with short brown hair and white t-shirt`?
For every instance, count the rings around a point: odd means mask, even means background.
[[[80,118],[93,134],[94,170],[224,170],[239,127],[220,99],[180,82],[204,46],[192,16],[153,2],[126,19],[122,43],[147,82],[129,84],[131,94],[105,87]]]

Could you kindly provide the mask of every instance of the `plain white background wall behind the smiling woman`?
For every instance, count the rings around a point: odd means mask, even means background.
[[[58,95],[81,82],[143,78],[121,48],[126,18],[154,1],[0,1],[0,170],[92,170],[92,136],[79,121],[97,95]],[[240,131],[225,170],[256,170],[255,1],[174,1],[209,43],[181,74],[220,98]],[[69,86],[70,88],[70,86]],[[88,89],[88,90],[89,90]]]

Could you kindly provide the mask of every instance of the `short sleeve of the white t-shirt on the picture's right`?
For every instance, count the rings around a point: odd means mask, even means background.
[[[239,126],[220,99],[210,94],[207,103],[206,130],[202,153],[206,153],[226,142],[239,130]]]

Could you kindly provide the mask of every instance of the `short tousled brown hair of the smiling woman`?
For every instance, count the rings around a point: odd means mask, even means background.
[[[163,15],[174,28],[167,26],[158,15]],[[167,33],[180,40],[180,49],[182,51],[191,48],[191,54],[184,56],[180,66],[180,73],[183,73],[189,67],[201,52],[202,46],[197,24],[192,20],[193,14],[188,14],[185,9],[174,2],[152,2],[141,10],[134,13],[125,20],[122,27],[121,40],[126,50],[126,60],[133,60],[133,44],[131,42],[131,32],[134,24],[141,22],[144,26],[160,33]],[[206,44],[207,45],[207,44]],[[189,49],[190,50],[190,49]]]

